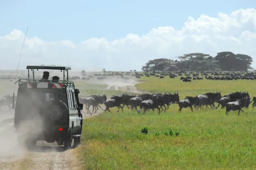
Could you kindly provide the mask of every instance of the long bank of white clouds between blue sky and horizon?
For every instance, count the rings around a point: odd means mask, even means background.
[[[256,68],[256,9],[217,16],[202,14],[196,20],[188,17],[180,30],[158,27],[142,37],[130,33],[111,42],[91,38],[75,44],[71,40],[48,42],[40,37],[26,37],[19,68],[53,64],[70,65],[72,70],[140,70],[149,59],[176,59],[175,56],[193,52],[215,56],[221,51],[250,55]],[[0,69],[16,69],[24,36],[15,29],[0,37]]]

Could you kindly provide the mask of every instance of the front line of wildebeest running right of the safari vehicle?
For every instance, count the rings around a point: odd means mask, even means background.
[[[164,94],[144,93],[138,96],[133,94],[122,94],[118,96],[111,96],[110,99],[107,99],[105,94],[91,95],[89,97],[80,98],[80,103],[86,105],[86,110],[90,115],[96,113],[96,111],[98,110],[98,106],[101,107],[100,104],[104,104],[106,106],[105,112],[111,112],[109,108],[112,107],[117,107],[117,112],[119,112],[119,109],[124,112],[123,108],[126,105],[127,108],[131,110],[135,109],[138,113],[140,113],[142,109],[144,110],[144,113],[149,109],[152,109],[153,111],[155,109],[158,109],[158,114],[160,114],[160,112],[162,112],[163,110],[166,111],[169,108],[169,105],[172,104],[179,105],[178,112],[181,112],[183,108],[187,107],[190,107],[191,111],[193,111],[192,106],[194,106],[194,108],[198,110],[199,108],[203,109],[204,106],[206,106],[207,108],[208,105],[210,105],[212,109],[217,109],[219,105],[221,105],[222,109],[226,107],[226,114],[228,114],[230,110],[238,110],[238,115],[240,115],[240,111],[244,112],[242,108],[248,108],[252,102],[254,102],[254,107],[256,105],[256,96],[254,96],[253,100],[251,101],[248,92],[234,92],[221,96],[220,91],[209,92],[196,96],[186,96],[185,99],[182,100],[180,100],[178,92],[174,92],[174,94],[171,94],[170,92]],[[218,105],[215,106],[214,103],[218,103]],[[90,106],[93,106],[92,112],[90,112],[89,110]],[[137,109],[137,107],[139,107],[139,110]]]

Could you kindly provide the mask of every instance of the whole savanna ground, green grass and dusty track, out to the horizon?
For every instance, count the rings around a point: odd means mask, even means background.
[[[110,99],[112,95],[124,93],[137,96],[142,93],[170,92],[178,93],[179,100],[182,100],[186,96],[196,97],[208,92],[220,92],[221,96],[234,92],[248,92],[252,101],[253,96],[256,95],[255,79],[252,78],[255,77],[255,71],[146,72],[133,70],[88,72],[87,76],[91,75],[93,78],[84,80],[80,72],[70,71],[70,78],[79,77],[72,81],[75,82],[76,88],[79,88],[80,97],[106,94],[107,99]],[[23,71],[20,76],[26,73]],[[145,73],[155,75],[146,76]],[[13,73],[10,71],[2,73],[5,76],[11,74]],[[140,76],[136,78],[132,74]],[[181,80],[181,77],[186,77],[185,74],[192,77],[192,82]],[[208,78],[203,74],[208,74]],[[36,75],[40,77],[42,71],[38,71]],[[55,71],[51,75],[61,74]],[[164,78],[160,78],[161,75],[165,75]],[[170,78],[169,75],[176,76]],[[209,78],[210,76],[215,78]],[[106,78],[97,79],[97,77]],[[216,77],[226,78],[221,80]],[[233,78],[228,80],[227,77]],[[2,79],[2,89],[6,90],[1,91],[1,95],[12,95],[13,83],[14,81],[11,82],[9,79]],[[215,106],[217,104],[215,103]],[[124,106],[124,112],[117,112],[118,108],[112,107],[110,108],[112,113],[99,109],[96,114],[90,115],[84,106],[82,114],[85,120],[81,145],[67,151],[62,150],[61,146],[43,141],[38,141],[35,150],[18,148],[12,129],[13,110],[9,112],[8,108],[3,106],[0,133],[4,139],[0,140],[2,144],[0,167],[3,169],[254,169],[256,116],[252,104],[249,104],[248,109],[244,107],[244,112],[240,112],[240,116],[237,110],[230,111],[226,115],[226,108],[221,109],[221,107],[204,107],[196,110],[193,106],[193,112],[187,107],[180,113],[177,103],[172,103],[169,109],[161,111],[160,114],[157,109],[155,111],[149,109],[145,113],[142,111],[138,114],[136,110],[132,111]],[[101,107],[105,109],[104,104]]]

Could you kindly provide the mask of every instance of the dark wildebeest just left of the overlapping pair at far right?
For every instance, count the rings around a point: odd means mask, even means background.
[[[197,106],[195,106],[195,108],[198,109],[198,106],[202,108],[203,105],[206,105],[206,108],[208,107],[208,105],[210,105],[211,108],[214,108],[215,107],[214,103],[219,102],[220,99],[221,99],[220,91],[219,92],[216,91],[216,93],[209,92],[209,93],[198,95],[198,103],[197,103]]]

